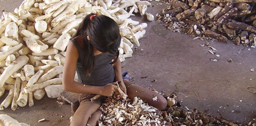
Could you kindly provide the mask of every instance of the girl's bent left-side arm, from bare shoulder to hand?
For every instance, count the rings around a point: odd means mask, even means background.
[[[117,87],[113,84],[106,84],[105,86],[91,86],[78,83],[74,81],[76,64],[79,58],[76,47],[72,42],[69,42],[66,59],[63,67],[63,76],[62,76],[62,85],[63,90],[74,92],[74,93],[83,93],[83,94],[100,94],[104,96],[112,96],[113,92]]]

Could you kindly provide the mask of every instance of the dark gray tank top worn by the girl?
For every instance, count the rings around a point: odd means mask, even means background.
[[[86,76],[85,70],[81,63],[82,47],[73,38],[71,42],[75,45],[79,53],[79,59],[76,64],[76,72],[78,75],[78,80],[80,83],[93,86],[103,86],[105,84],[111,83],[115,78],[115,70],[111,64],[114,55],[109,52],[104,52],[94,56],[95,67],[90,73],[90,76]]]

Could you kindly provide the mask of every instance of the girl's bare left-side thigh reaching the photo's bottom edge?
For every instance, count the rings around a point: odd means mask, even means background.
[[[70,126],[85,126],[91,114],[100,107],[97,103],[88,103],[81,105],[75,111]]]

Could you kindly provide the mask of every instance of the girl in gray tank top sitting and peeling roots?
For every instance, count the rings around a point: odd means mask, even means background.
[[[161,95],[130,83],[128,72],[121,75],[120,39],[118,25],[104,15],[89,14],[77,27],[67,47],[62,80],[63,90],[80,93],[80,106],[74,113],[71,126],[95,126],[102,113],[98,108],[117,90],[117,81],[121,81],[120,88],[128,98],[137,96],[160,110],[166,108],[167,101]],[[74,81],[75,71],[79,82]],[[91,101],[97,94],[101,97]],[[158,101],[152,100],[155,96]]]

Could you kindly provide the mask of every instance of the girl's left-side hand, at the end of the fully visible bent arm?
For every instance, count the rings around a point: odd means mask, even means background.
[[[117,84],[117,82],[113,82],[113,83],[108,83],[108,84],[102,86],[100,95],[107,96],[107,97],[112,96],[118,88],[118,86],[116,84]]]

